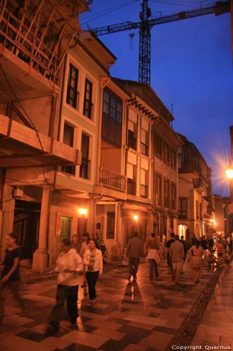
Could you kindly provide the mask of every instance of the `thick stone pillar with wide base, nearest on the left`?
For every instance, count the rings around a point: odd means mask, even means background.
[[[41,201],[41,218],[38,237],[38,249],[34,252],[32,270],[43,273],[47,267],[47,232],[48,232],[48,213],[50,208],[50,187],[43,187]]]

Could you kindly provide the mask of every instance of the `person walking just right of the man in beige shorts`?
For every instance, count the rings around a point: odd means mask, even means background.
[[[204,252],[199,240],[196,240],[195,245],[192,245],[187,253],[188,260],[192,265],[192,272],[195,283],[199,283],[203,254]]]

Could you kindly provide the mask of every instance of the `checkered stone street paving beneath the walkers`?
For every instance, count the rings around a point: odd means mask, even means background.
[[[137,282],[129,283],[127,267],[106,267],[97,283],[95,307],[87,307],[86,291],[80,288],[77,325],[69,324],[64,313],[59,333],[49,337],[44,331],[55,303],[56,281],[25,284],[27,310],[19,315],[19,308],[8,298],[6,317],[0,326],[0,350],[162,351],[191,343],[230,345],[233,338],[231,268],[223,268],[213,298],[211,293],[219,273],[213,273],[208,267],[202,267],[200,284],[192,282],[189,265],[185,265],[180,284],[172,282],[165,261],[159,266],[159,279],[150,282],[148,270],[148,264],[142,263]],[[211,301],[204,312],[209,298]],[[232,324],[227,329],[229,320]],[[201,324],[198,326],[197,322]],[[217,326],[218,333],[213,331]]]

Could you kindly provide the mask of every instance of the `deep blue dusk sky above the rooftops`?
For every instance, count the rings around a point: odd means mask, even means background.
[[[139,0],[93,0],[83,29],[139,22]],[[202,1],[211,6],[212,1]],[[153,17],[199,8],[197,0],[150,0]],[[121,8],[120,8],[121,7]],[[113,11],[113,8],[114,11]],[[108,10],[108,13],[106,13]],[[133,39],[129,33],[134,33]],[[139,29],[99,37],[118,58],[111,75],[138,81]],[[151,86],[172,111],[173,128],[195,143],[212,168],[213,194],[229,195],[225,168],[233,124],[233,69],[230,13],[204,15],[151,29]]]

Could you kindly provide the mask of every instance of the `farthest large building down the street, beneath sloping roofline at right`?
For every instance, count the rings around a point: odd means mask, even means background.
[[[204,157],[184,135],[178,150],[178,234],[190,239],[212,235],[211,168]]]

